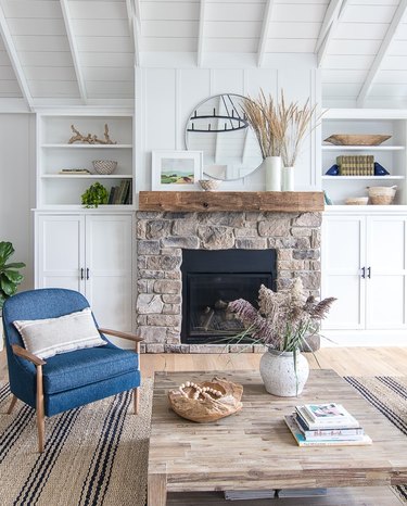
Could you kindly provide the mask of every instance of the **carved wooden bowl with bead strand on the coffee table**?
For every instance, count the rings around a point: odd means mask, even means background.
[[[187,381],[178,390],[168,392],[168,400],[179,416],[204,423],[240,412],[242,393],[241,384],[214,378],[202,383]]]

